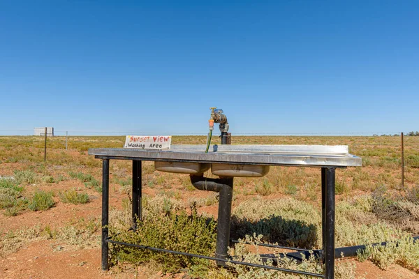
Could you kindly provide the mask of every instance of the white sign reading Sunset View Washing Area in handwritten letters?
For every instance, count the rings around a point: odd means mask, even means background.
[[[171,135],[127,135],[124,148],[170,149]]]

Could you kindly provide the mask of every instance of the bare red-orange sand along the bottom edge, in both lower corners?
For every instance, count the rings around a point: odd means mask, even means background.
[[[184,273],[163,275],[161,271],[150,274],[149,269],[103,272],[101,266],[101,250],[82,249],[54,251],[48,241],[27,243],[13,255],[0,259],[0,278],[187,278]],[[355,261],[355,259],[346,259]],[[393,265],[387,271],[378,269],[372,262],[356,262],[357,278],[371,279],[414,279],[417,273]],[[135,274],[136,273],[136,274]]]

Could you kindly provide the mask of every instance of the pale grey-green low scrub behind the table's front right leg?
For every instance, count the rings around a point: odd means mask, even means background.
[[[376,243],[404,234],[396,225],[378,219],[373,210],[373,199],[368,196],[355,199],[355,202],[338,202],[336,246]],[[321,248],[321,212],[310,204],[292,198],[263,202],[248,200],[234,209],[232,232],[236,237],[252,235],[253,232],[263,233],[264,241]],[[273,238],[272,233],[281,238]]]

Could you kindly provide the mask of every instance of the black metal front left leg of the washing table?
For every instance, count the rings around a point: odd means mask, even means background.
[[[109,268],[109,159],[102,160],[102,270]]]

